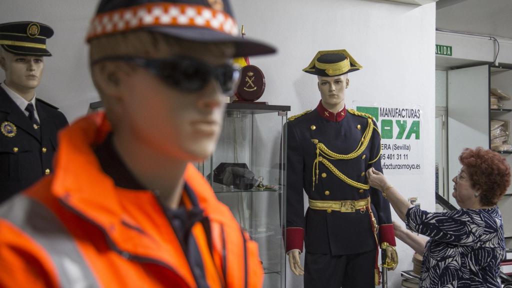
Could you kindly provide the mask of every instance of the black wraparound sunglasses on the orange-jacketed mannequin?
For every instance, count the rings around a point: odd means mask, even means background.
[[[203,90],[213,77],[222,92],[232,96],[237,88],[240,70],[238,66],[222,64],[212,66],[199,59],[189,56],[171,58],[143,58],[136,56],[112,56],[94,60],[91,65],[103,61],[125,61],[143,67],[159,77],[165,84],[183,92],[199,92]]]

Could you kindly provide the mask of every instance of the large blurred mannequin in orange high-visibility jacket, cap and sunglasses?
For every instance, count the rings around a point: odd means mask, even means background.
[[[233,36],[227,1],[205,3],[100,2],[88,41],[106,114],[62,131],[53,175],[0,207],[0,286],[262,285],[257,244],[190,162],[215,149],[232,58],[274,50]]]

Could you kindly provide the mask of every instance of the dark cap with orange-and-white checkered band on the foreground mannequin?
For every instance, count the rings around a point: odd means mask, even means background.
[[[136,29],[197,42],[232,43],[234,57],[275,52],[267,44],[241,37],[229,0],[101,0],[87,40]]]

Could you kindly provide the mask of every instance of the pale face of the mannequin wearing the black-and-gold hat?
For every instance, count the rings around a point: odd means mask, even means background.
[[[318,90],[326,108],[337,106],[341,106],[339,109],[343,108],[343,105],[345,105],[345,89],[348,83],[347,74],[333,77],[318,76]]]

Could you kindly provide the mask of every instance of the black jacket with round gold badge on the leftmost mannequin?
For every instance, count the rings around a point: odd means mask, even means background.
[[[40,122],[40,139],[32,122],[0,87],[0,202],[28,188],[52,171],[53,154],[57,148],[57,131],[68,120],[56,107],[36,98]],[[14,133],[3,133],[5,127]],[[14,135],[13,135],[14,134]]]

